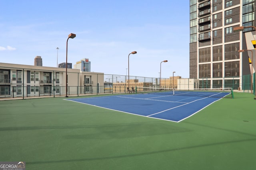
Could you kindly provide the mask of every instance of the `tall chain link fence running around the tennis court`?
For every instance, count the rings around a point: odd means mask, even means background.
[[[79,77],[79,76],[78,76]],[[98,76],[97,76],[98,77]],[[67,86],[68,96],[82,96],[88,94],[114,94],[127,93],[127,88],[149,87],[159,88],[160,78],[127,76],[116,74],[104,74],[104,84],[84,83],[84,86]],[[189,82],[190,79],[188,79]],[[241,80],[241,81],[240,81]],[[6,81],[6,80],[5,80]],[[52,82],[54,80],[51,80]],[[102,82],[102,80],[100,80]],[[188,84],[174,84],[172,86],[171,78],[161,78],[161,88],[176,88],[186,86]],[[98,80],[97,80],[98,82]],[[3,84],[1,84],[3,83]],[[22,86],[22,84],[4,85],[0,82],[1,98],[20,98],[32,96],[66,96],[66,86],[59,86],[56,83],[48,85],[34,84],[30,86]],[[255,95],[255,73],[234,78],[222,78],[222,80],[202,79],[199,81],[199,88],[233,88],[242,92],[252,92]]]

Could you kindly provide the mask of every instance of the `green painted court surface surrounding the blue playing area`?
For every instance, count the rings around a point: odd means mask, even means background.
[[[234,97],[180,123],[64,97],[2,100],[0,161],[26,170],[255,170],[256,100]]]

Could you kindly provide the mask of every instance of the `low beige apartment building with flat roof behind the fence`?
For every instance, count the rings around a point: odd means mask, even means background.
[[[104,73],[68,68],[67,83],[68,95],[104,92]],[[66,68],[0,63],[0,97],[43,95],[66,95]]]

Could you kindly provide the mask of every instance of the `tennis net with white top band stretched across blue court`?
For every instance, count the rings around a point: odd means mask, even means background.
[[[156,95],[234,98],[232,88],[172,89],[172,88],[136,87],[135,91],[136,93],[149,93],[149,94],[156,94]]]

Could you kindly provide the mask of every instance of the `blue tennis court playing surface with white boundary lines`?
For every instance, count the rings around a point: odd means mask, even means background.
[[[169,92],[169,95],[167,93],[126,94],[68,100],[155,119],[180,122],[228,94],[230,93],[208,92],[199,96],[190,96],[184,92],[175,95]]]

